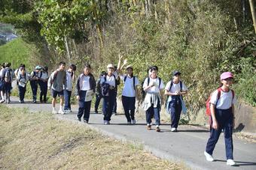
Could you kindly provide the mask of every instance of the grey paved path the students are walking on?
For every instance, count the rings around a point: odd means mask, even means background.
[[[20,104],[16,97],[12,97],[14,107],[26,107],[32,112],[50,112],[51,106],[47,104]],[[56,107],[58,108],[58,107]],[[56,118],[72,121],[78,124],[84,124],[76,121],[76,106],[73,107],[74,113],[69,115],[56,115]],[[113,115],[111,125],[102,124],[102,115],[90,115],[90,124],[84,124],[94,130],[97,130],[107,136],[112,136],[126,142],[132,142],[143,146],[145,151],[150,151],[157,157],[167,160],[182,162],[191,169],[256,169],[256,144],[236,139],[234,137],[234,159],[238,166],[230,167],[226,165],[224,137],[221,135],[215,148],[215,162],[206,162],[203,151],[206,147],[206,141],[209,138],[209,130],[194,126],[180,126],[178,133],[170,132],[169,124],[161,125],[161,133],[154,130],[146,130],[145,121],[138,120],[136,125],[126,125],[124,115]]]

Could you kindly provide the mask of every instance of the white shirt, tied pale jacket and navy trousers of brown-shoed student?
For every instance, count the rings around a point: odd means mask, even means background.
[[[152,123],[152,118],[154,117],[156,121],[156,125],[160,125],[160,109],[161,109],[161,97],[160,90],[164,88],[163,81],[157,77],[157,79],[151,79],[148,77],[145,79],[143,83],[143,88],[147,87],[151,83],[154,83],[154,86],[148,88],[145,95],[144,106],[143,109],[146,112],[146,122],[147,125]]]

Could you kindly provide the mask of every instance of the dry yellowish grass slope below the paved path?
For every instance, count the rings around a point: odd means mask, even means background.
[[[0,169],[184,169],[50,114],[0,106]]]

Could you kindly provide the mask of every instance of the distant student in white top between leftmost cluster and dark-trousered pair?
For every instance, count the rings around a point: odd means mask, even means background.
[[[20,69],[20,73],[17,75],[17,82],[19,88],[20,103],[24,103],[26,84],[29,82],[29,75],[26,73],[25,67]]]

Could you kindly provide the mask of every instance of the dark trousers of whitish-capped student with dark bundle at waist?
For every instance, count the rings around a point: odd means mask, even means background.
[[[116,95],[114,94],[114,90],[108,91],[108,96],[103,97],[103,106],[102,112],[104,114],[104,121],[111,121],[111,115],[114,107],[114,100],[116,99]]]

